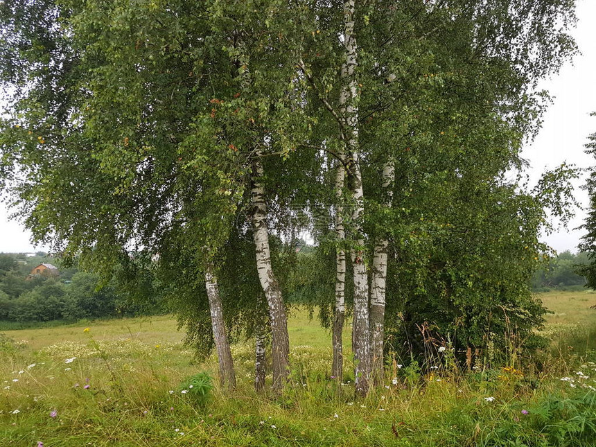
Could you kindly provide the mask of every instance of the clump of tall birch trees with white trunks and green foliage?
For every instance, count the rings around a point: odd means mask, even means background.
[[[229,344],[248,338],[255,386],[270,345],[283,389],[284,295],[317,289],[329,374],[342,380],[351,316],[365,396],[385,383],[389,344],[414,356],[429,324],[459,353],[505,349],[505,320],[524,340],[543,322],[529,290],[548,252],[538,234],[566,218],[575,171],[530,188],[520,150],[548,102],[538,81],[576,51],[574,11],[5,0],[1,184],[65,260],[106,278],[116,265],[155,274],[188,341],[216,347],[226,387]],[[309,256],[295,252],[300,234]]]

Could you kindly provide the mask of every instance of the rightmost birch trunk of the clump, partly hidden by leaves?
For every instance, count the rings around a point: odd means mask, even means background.
[[[395,168],[392,160],[383,166],[383,194],[385,207],[391,207],[393,198],[392,184],[395,178]],[[387,237],[381,236],[374,249],[372,280],[371,280],[371,347],[372,347],[372,376],[374,384],[380,385],[385,378],[383,363],[383,337],[385,335],[385,295],[387,290]]]

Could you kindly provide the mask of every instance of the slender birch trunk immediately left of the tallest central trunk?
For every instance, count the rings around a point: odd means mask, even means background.
[[[338,244],[342,244],[346,237],[344,231],[344,219],[342,216],[342,191],[344,189],[345,175],[346,169],[344,164],[340,162],[335,177],[335,198],[337,199],[337,205],[335,207],[335,236],[338,240]],[[342,381],[344,369],[342,332],[344,330],[344,319],[346,315],[345,290],[346,252],[338,245],[335,257],[335,315],[333,317],[333,366],[331,367],[331,376],[340,381]]]

